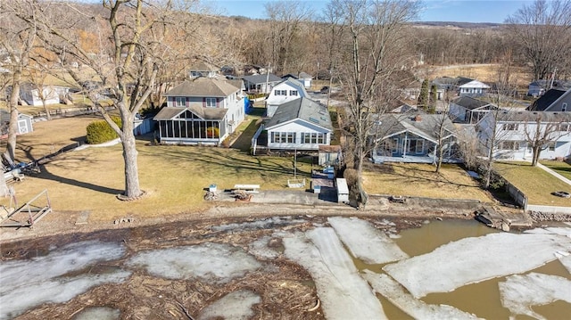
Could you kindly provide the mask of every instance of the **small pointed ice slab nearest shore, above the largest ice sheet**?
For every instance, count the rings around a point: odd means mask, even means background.
[[[385,233],[356,217],[329,217],[327,221],[355,258],[383,264],[409,258]]]

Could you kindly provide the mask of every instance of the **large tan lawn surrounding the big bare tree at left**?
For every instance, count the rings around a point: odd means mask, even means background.
[[[62,146],[85,139],[95,117],[54,119],[34,124],[34,132],[18,137],[17,160],[28,162]],[[13,184],[19,204],[47,190],[55,212],[90,210],[90,218],[112,220],[129,214],[155,217],[198,212],[211,206],[204,188],[219,190],[236,184],[261,185],[261,190],[285,189],[294,177],[293,157],[252,157],[229,148],[151,145],[152,135],[137,142],[140,185],[147,196],[123,202],[120,144],[66,152],[47,163],[39,175]],[[4,142],[5,143],[5,142]],[[298,159],[297,176],[310,177],[309,161]],[[9,199],[3,199],[6,205]]]

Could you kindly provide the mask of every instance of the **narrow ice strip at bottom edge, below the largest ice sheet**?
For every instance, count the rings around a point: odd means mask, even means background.
[[[371,283],[373,290],[385,296],[393,305],[401,308],[409,316],[423,320],[442,319],[477,319],[475,315],[469,314],[458,308],[448,305],[428,305],[424,301],[415,299],[404,291],[404,288],[388,275],[379,275],[372,271],[365,270],[363,278]]]

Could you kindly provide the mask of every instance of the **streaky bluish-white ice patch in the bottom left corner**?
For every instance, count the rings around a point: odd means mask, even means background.
[[[101,261],[121,258],[124,247],[108,242],[77,242],[46,256],[6,261],[0,265],[0,319],[10,319],[46,302],[73,299],[103,283],[120,283],[130,273],[115,270],[102,275],[65,276]]]

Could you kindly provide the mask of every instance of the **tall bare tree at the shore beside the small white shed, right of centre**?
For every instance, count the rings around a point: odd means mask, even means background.
[[[357,171],[359,204],[366,204],[362,188],[363,162],[375,147],[370,134],[375,120],[401,94],[394,75],[406,65],[406,22],[418,13],[416,1],[341,1],[340,8],[346,33],[340,44],[342,60],[339,76],[349,106],[344,134],[352,146],[353,168]]]

